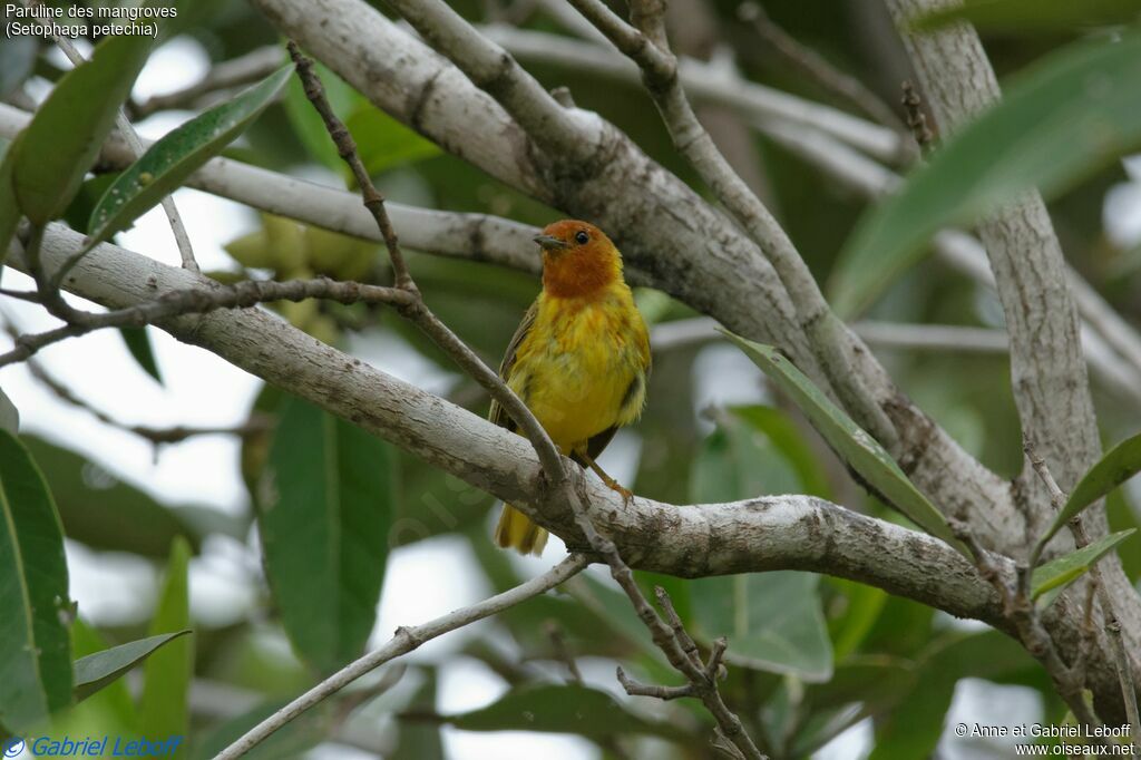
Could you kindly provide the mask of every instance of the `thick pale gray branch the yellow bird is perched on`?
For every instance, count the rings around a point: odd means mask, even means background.
[[[82,240],[63,226],[50,226],[41,249],[43,265],[49,270],[59,266]],[[209,283],[111,244],[97,246],[72,275],[65,283],[68,290],[113,308]],[[582,545],[569,511],[552,511],[543,501],[542,470],[526,439],[379,372],[262,309],[178,317],[159,326],[509,500],[569,545]],[[686,577],[771,569],[827,573],[1005,625],[997,595],[973,566],[924,534],[810,496],[689,507],[638,498],[626,507],[598,480],[576,467],[570,470],[591,519],[633,567]],[[1001,567],[1013,577],[1010,563]],[[1051,612],[1055,641],[1073,656],[1081,641],[1081,612],[1070,608],[1066,596]],[[1099,704],[1099,711],[1116,719],[1120,690],[1109,662],[1103,656],[1091,660],[1090,682],[1099,702],[1108,705]]]

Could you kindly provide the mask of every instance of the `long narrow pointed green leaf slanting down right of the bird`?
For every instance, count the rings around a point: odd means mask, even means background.
[[[725,334],[796,403],[828,445],[869,487],[924,531],[966,555],[939,510],[907,479],[883,446],[852,422],[811,380],[771,346],[745,340],[728,331]]]

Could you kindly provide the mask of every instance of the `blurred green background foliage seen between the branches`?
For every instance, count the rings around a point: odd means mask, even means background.
[[[451,5],[477,23],[565,33],[541,3],[454,0]],[[758,45],[753,31],[738,18],[736,0],[677,0],[675,5],[681,8],[675,24],[691,14],[711,29],[709,40],[690,45],[693,55],[705,57],[714,48],[728,51],[754,81],[845,107]],[[1023,14],[1044,13],[1030,3],[1022,6]],[[378,7],[388,13],[382,3]],[[898,103],[898,86],[908,72],[881,3],[769,0],[764,9],[795,39],[859,78],[884,102]],[[183,33],[215,63],[280,42],[273,27],[240,1],[202,2]],[[1107,32],[1063,22],[1043,24],[1033,33],[1018,24],[996,24],[984,26],[982,33],[1002,78],[1060,46]],[[23,81],[16,76],[9,81],[11,72],[49,82],[62,73],[56,58],[27,46],[17,50],[6,41],[0,56],[6,94]],[[656,111],[638,87],[552,64],[527,68],[547,87],[568,87],[577,105],[605,115],[655,160],[705,192],[672,149]],[[334,74],[323,71],[322,76],[369,171],[389,199],[539,226],[561,216],[442,152]],[[735,146],[730,157],[748,164],[738,169],[759,179],[758,189],[814,274],[826,281],[866,201],[759,134],[748,135],[747,144]],[[226,154],[277,171],[349,181],[296,82]],[[72,226],[84,229],[95,200],[112,177],[100,175],[86,183],[67,215]],[[1131,248],[1108,235],[1104,224],[1107,194],[1127,179],[1115,162],[1053,201],[1051,212],[1071,265],[1136,324],[1141,249],[1135,241]],[[377,245],[268,215],[259,218],[254,232],[236,236],[227,251],[232,269],[211,273],[224,281],[243,273],[283,278],[325,274],[375,282],[388,276]],[[497,364],[537,283],[489,265],[427,254],[413,253],[410,264],[437,314],[488,363]],[[640,292],[639,299],[656,324],[695,316],[661,293]],[[424,361],[451,370],[414,329],[382,310],[317,302],[274,308],[298,328],[341,348],[359,350],[378,338],[398,340]],[[992,292],[932,258],[893,282],[869,316],[1002,326]],[[138,371],[149,371],[161,381],[145,338],[137,333],[124,338],[139,359]],[[759,373],[738,372],[730,378],[736,387],[719,390],[719,383],[727,381],[717,370],[734,361],[728,353],[723,346],[686,343],[655,356],[649,405],[628,436],[628,443],[636,444],[628,446],[634,452],[628,456],[634,472],[628,485],[638,494],[677,503],[811,493],[896,519],[851,483],[802,417],[766,388]],[[969,452],[1002,475],[1012,477],[1020,470],[1021,440],[1005,355],[877,353],[899,386]],[[76,386],[81,391],[81,382]],[[1136,430],[1141,410],[1098,386],[1094,393],[1107,442]],[[486,413],[486,398],[467,379],[453,378],[447,396]],[[469,542],[480,582],[496,591],[529,572],[492,547],[487,516],[493,500],[486,494],[276,389],[265,388],[251,415],[265,415],[272,425],[243,437],[241,468],[250,508],[238,516],[195,503],[194,494],[187,494],[184,503],[161,503],[65,445],[23,437],[46,475],[68,539],[100,555],[146,558],[165,577],[147,623],[95,628],[83,622],[80,609],[72,625],[73,655],[147,634],[194,630],[193,636],[164,646],[131,679],[115,681],[40,728],[52,735],[188,729],[192,742],[183,757],[207,758],[364,649],[394,549],[442,534],[458,536]],[[1112,529],[1138,525],[1136,504],[1130,499],[1125,492],[1110,499]],[[245,559],[261,565],[265,582],[249,608],[225,622],[189,620],[189,557],[224,537],[245,547]],[[1139,542],[1134,536],[1119,552],[1134,581],[1141,573]],[[796,572],[689,582],[639,575],[647,588],[658,583],[669,589],[699,642],[729,637],[726,696],[772,758],[809,757],[842,735],[849,737],[847,743],[833,744],[827,757],[851,757],[844,754],[849,751],[871,751],[872,758],[932,757],[937,746],[947,753],[940,757],[1004,757],[1002,747],[993,745],[972,747],[952,738],[940,744],[948,710],[968,682],[977,690],[978,681],[992,688],[984,688],[984,696],[977,697],[980,703],[1006,694],[1002,687],[1017,686],[1025,689],[1023,700],[1038,706],[1041,722],[1065,715],[1049,679],[1013,641],[877,589]],[[419,581],[423,593],[446,582]],[[284,640],[291,646],[282,646]],[[442,712],[439,673],[459,658],[482,663],[502,682],[502,696],[479,709]],[[580,661],[585,678],[568,668]],[[324,745],[373,757],[431,760],[445,757],[440,730],[446,726],[462,731],[575,734],[605,758],[710,757],[707,714],[688,701],[618,696],[609,676],[614,661],[642,680],[675,678],[626,600],[608,580],[584,574],[559,593],[500,615],[454,652],[420,656],[366,679],[291,723],[254,754],[294,757]],[[861,728],[847,733],[852,727]],[[969,751],[976,754],[964,754]]]

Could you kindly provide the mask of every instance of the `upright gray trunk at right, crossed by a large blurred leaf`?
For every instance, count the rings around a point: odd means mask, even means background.
[[[897,24],[947,5],[888,0]],[[955,24],[904,34],[931,112],[953,134],[1001,97],[978,33]],[[1063,488],[1071,488],[1101,451],[1066,260],[1045,203],[1029,192],[979,225],[1011,341],[1011,381],[1022,431]],[[1033,482],[1033,475],[1023,479]],[[1034,483],[1038,487],[1037,483]],[[1036,499],[1043,516],[1049,500]],[[1049,519],[1049,518],[1047,518]],[[1037,529],[1038,525],[1031,525]]]

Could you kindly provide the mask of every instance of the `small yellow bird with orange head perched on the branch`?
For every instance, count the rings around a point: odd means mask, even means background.
[[[596,461],[615,431],[641,415],[650,373],[649,334],[622,276],[622,254],[586,221],[564,219],[534,241],[543,288],[508,345],[500,377],[526,404],[559,451],[622,495],[630,491]],[[512,431],[496,402],[488,419]],[[495,542],[541,555],[547,531],[503,504]]]

